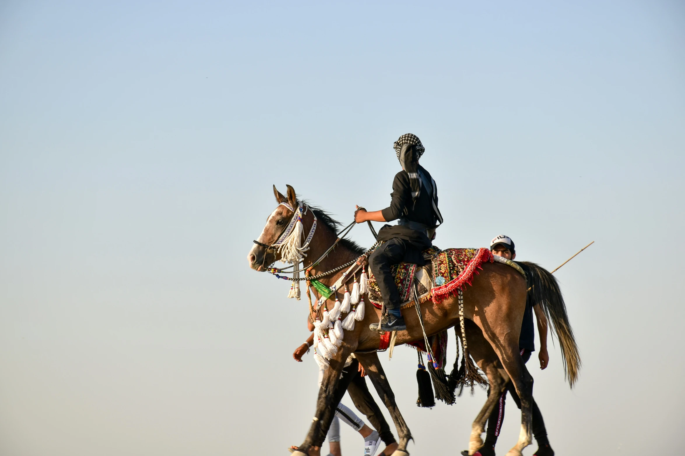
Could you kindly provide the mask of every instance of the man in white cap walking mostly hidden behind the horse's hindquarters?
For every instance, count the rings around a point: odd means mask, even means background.
[[[493,255],[501,256],[508,260],[516,258],[516,247],[514,241],[504,234],[500,234],[490,241],[490,251]],[[523,323],[521,324],[521,336],[519,336],[519,348],[521,349],[521,357],[523,362],[528,362],[530,355],[535,351],[535,332],[533,329],[533,312],[538,322],[538,334],[540,335],[540,353],[538,358],[540,360],[540,368],[544,369],[549,363],[549,354],[547,353],[547,317],[545,311],[540,306],[531,306],[530,301],[526,303],[525,312],[523,313]],[[504,420],[504,401],[507,396],[507,391],[512,395],[512,399],[516,405],[521,408],[521,400],[519,395],[511,382],[509,382],[507,389],[504,390],[499,402],[495,405],[495,410],[488,418],[488,432],[486,433],[485,443],[479,451],[474,453],[474,456],[495,456],[495,444],[501,429],[502,421]],[[545,421],[543,415],[540,413],[538,405],[533,399],[533,423],[532,431],[535,435],[535,440],[538,441],[538,451],[533,456],[554,456],[554,451],[549,446],[547,440],[547,429],[545,429]],[[464,454],[464,453],[462,453]],[[466,454],[469,454],[466,452]]]

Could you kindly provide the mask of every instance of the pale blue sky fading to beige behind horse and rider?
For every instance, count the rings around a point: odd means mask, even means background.
[[[677,453],[684,25],[677,1],[3,2],[0,455],[299,444],[306,304],[245,256],[272,184],[345,224],[386,206],[408,132],[436,245],[508,234],[553,269],[596,241],[557,273],[577,388],[558,349],[529,363],[558,454]],[[485,394],[418,409],[414,357],[382,356],[409,449],[457,454]],[[498,454],[519,422],[511,403]]]

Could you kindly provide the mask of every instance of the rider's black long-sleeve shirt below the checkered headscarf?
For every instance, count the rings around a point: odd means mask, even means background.
[[[432,182],[430,173],[425,168],[419,165],[419,170],[425,174],[427,179]],[[434,188],[435,201],[438,202],[438,189]],[[428,194],[428,190],[421,185],[421,193],[416,199],[416,204],[412,202],[412,187],[409,184],[409,174],[406,171],[400,171],[395,174],[393,180],[393,193],[390,193],[392,200],[390,206],[381,211],[386,222],[392,222],[395,219],[407,219],[410,222],[418,222],[425,226],[435,226],[438,217],[433,210],[433,203]]]

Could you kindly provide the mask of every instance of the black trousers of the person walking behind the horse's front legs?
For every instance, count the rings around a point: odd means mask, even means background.
[[[358,360],[353,360],[352,364],[343,368],[343,376],[340,377],[333,395],[334,403],[337,404],[340,402],[340,399],[343,399],[345,391],[349,392],[349,397],[352,398],[352,402],[357,407],[357,410],[366,415],[369,423],[378,431],[381,440],[386,445],[395,443],[393,431],[390,431],[390,426],[383,416],[383,412],[381,412],[376,401],[373,400],[369,388],[366,387],[366,379],[359,372]],[[321,446],[325,437],[326,433],[322,429],[321,434],[316,436],[314,445]]]

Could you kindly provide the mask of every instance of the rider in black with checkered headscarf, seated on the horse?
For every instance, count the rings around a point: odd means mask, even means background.
[[[432,245],[437,224],[443,223],[438,210],[438,189],[435,180],[425,168],[419,165],[419,158],[425,148],[416,135],[401,135],[393,144],[402,171],[395,175],[390,206],[382,211],[366,212],[359,209],[354,220],[362,222],[391,222],[399,219],[394,226],[385,225],[378,232],[378,240],[384,241],[369,257],[369,269],[375,276],[388,314],[380,327],[371,329],[381,331],[401,331],[407,327],[400,312],[401,299],[390,273],[390,266],[398,263],[425,265],[423,250]]]

